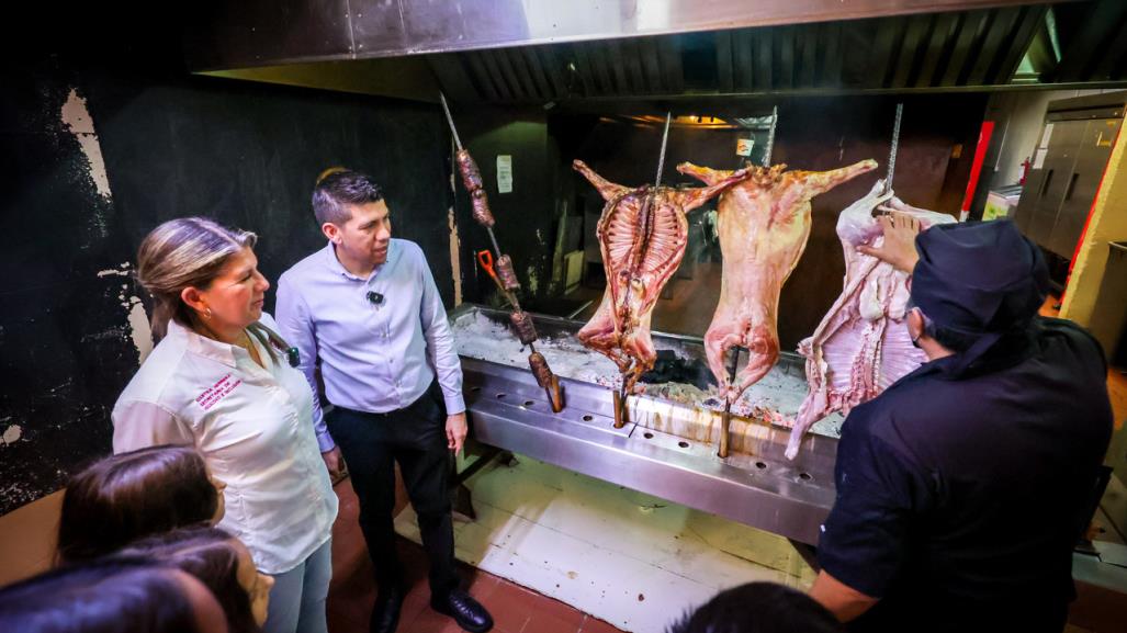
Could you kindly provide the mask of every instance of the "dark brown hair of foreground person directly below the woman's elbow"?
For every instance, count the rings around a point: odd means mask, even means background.
[[[66,484],[56,562],[92,560],[142,536],[210,523],[220,502],[194,448],[153,446],[99,460]]]

